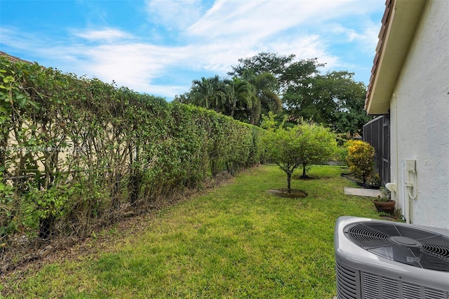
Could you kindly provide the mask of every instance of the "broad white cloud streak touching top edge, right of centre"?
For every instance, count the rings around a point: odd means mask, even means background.
[[[350,13],[354,10],[352,1],[218,0],[188,32],[205,38],[248,34],[263,38],[284,29],[316,25]]]

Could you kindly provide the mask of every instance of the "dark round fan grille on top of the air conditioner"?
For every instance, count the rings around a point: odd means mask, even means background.
[[[449,272],[449,238],[394,223],[356,222],[344,234],[366,251],[398,263]]]

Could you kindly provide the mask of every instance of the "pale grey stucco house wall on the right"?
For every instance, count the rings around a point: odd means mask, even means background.
[[[416,160],[408,220],[449,229],[449,1],[429,1],[391,98],[391,181],[408,216],[403,160]],[[406,26],[406,25],[404,25]],[[417,180],[417,182],[415,182]],[[409,188],[410,189],[410,188]],[[413,194],[415,196],[415,194]]]

